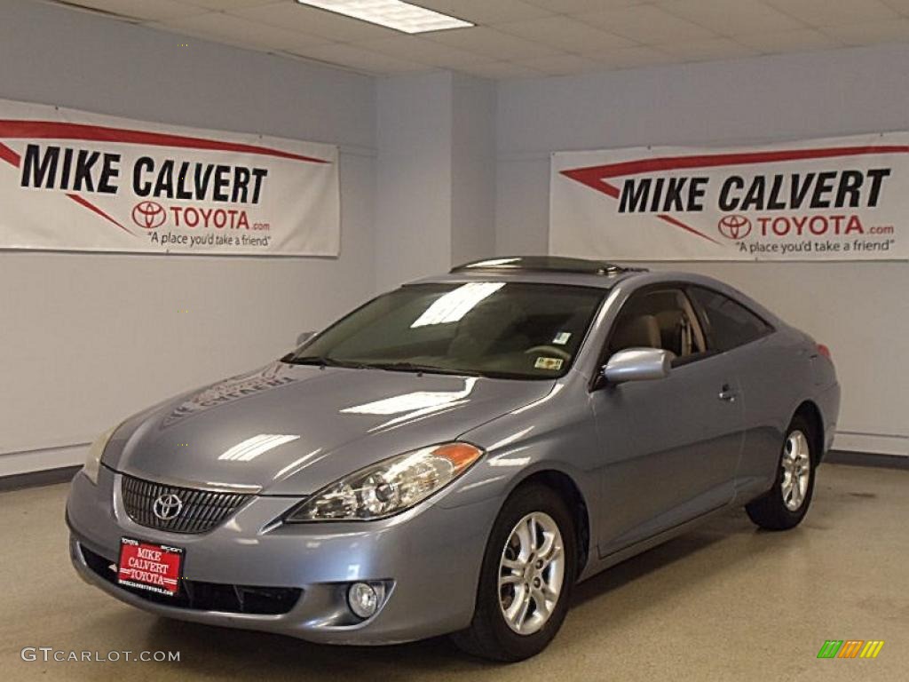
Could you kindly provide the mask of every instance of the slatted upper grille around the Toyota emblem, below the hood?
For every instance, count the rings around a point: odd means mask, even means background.
[[[155,500],[175,495],[182,507],[175,517],[162,519],[155,515]],[[172,533],[205,533],[244,505],[252,495],[195,490],[165,486],[133,476],[123,476],[123,504],[126,514],[140,526]]]

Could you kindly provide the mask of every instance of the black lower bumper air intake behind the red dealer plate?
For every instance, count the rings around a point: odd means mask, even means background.
[[[280,616],[290,611],[300,600],[303,590],[299,587],[253,587],[205,583],[200,580],[180,580],[180,588],[172,597],[148,592],[138,587],[119,585],[116,581],[116,562],[95,554],[80,543],[79,551],[85,565],[111,585],[125,590],[146,601],[167,607],[190,608],[196,611],[221,611],[260,616]],[[111,568],[111,567],[114,568]]]

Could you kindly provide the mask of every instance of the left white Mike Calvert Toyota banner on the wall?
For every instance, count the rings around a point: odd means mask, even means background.
[[[0,100],[0,248],[337,256],[338,152]]]

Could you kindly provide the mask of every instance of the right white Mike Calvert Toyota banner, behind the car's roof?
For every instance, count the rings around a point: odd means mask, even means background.
[[[904,260],[909,133],[556,153],[549,252],[613,260]]]

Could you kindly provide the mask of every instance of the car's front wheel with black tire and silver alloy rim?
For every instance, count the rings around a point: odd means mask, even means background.
[[[544,535],[547,528],[552,529],[552,524],[558,529],[558,534],[550,532]],[[519,525],[526,530],[519,531]],[[529,528],[533,527],[539,532],[531,533]],[[517,550],[522,546],[519,536],[529,541],[532,535],[537,538],[536,549],[544,550],[540,554],[550,557],[542,568],[538,566],[544,558],[534,554],[534,560],[527,562],[522,557],[529,559],[531,555],[526,554],[524,549]],[[544,554],[550,537],[554,538],[552,549]],[[557,551],[559,540],[561,552]],[[527,542],[523,543],[523,547],[528,547]],[[504,566],[505,560],[510,562],[509,567]],[[550,601],[545,597],[544,589],[554,586],[560,572],[560,560],[561,585],[557,597]],[[518,565],[524,569],[517,568]],[[517,488],[502,506],[486,543],[474,618],[470,627],[452,635],[454,644],[476,657],[494,661],[514,662],[535,656],[543,651],[562,627],[576,571],[574,521],[562,497],[552,488],[539,484]],[[502,587],[499,585],[500,577],[507,581]],[[527,595],[530,597],[525,597]],[[536,599],[544,604],[542,610],[537,607]],[[528,607],[524,608],[524,603]],[[504,613],[506,604],[510,611],[514,609],[517,614],[511,625]],[[526,615],[523,633],[515,629],[515,624],[522,622],[522,612]]]

